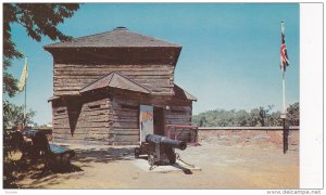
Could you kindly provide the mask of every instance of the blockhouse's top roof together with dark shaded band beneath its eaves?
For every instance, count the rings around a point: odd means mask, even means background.
[[[133,32],[124,27],[43,47],[55,63],[170,64],[175,66],[181,46]]]

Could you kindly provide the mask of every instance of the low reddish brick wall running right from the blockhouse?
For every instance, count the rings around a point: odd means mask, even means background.
[[[230,146],[283,148],[283,129],[280,127],[201,127],[198,131],[198,141]],[[299,151],[299,127],[289,128],[288,148]]]

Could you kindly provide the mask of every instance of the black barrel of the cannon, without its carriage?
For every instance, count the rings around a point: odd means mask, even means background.
[[[187,143],[184,141],[172,140],[166,136],[158,135],[158,134],[148,134],[146,135],[146,142],[154,142],[154,143],[163,143],[167,146],[179,148],[181,151],[186,150]]]

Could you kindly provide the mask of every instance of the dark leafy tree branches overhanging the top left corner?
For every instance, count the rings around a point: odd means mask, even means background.
[[[71,37],[58,29],[65,18],[72,17],[79,9],[78,3],[3,3],[3,93],[14,96],[17,80],[9,73],[13,58],[22,58],[11,36],[11,25],[22,25],[27,35],[36,41],[42,36],[51,40],[66,41]]]

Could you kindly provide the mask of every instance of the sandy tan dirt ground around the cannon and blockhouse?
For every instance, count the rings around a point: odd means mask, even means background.
[[[299,152],[273,146],[201,142],[177,151],[201,171],[146,172],[133,164],[133,147],[71,145],[67,170],[21,174],[27,188],[298,188]]]

